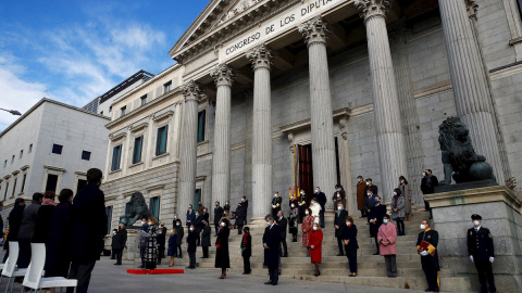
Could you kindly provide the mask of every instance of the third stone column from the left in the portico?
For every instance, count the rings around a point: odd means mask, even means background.
[[[253,67],[252,220],[269,213],[272,194],[272,120],[270,65],[274,56],[261,44],[248,52]]]

